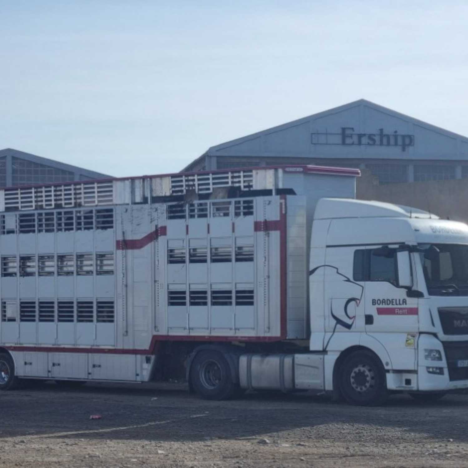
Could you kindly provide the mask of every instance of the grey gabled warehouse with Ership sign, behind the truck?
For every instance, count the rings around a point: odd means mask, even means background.
[[[468,177],[468,138],[360,99],[212,146],[184,171],[284,164],[368,169],[379,183]]]

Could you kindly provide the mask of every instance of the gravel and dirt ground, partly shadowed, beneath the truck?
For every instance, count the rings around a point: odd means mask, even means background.
[[[1,467],[468,467],[468,395],[360,408],[304,394],[206,402],[181,386],[46,383],[1,393],[0,404]]]

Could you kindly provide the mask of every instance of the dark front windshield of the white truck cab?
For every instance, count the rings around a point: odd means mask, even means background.
[[[419,244],[427,292],[431,296],[468,295],[468,245]]]

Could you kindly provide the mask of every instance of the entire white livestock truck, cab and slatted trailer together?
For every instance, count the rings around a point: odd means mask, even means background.
[[[294,165],[0,190],[0,388],[468,388],[468,227]]]

